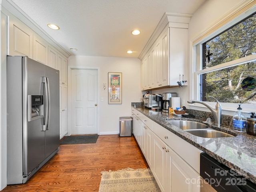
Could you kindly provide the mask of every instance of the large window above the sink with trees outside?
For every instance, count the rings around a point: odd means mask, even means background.
[[[194,45],[194,51],[196,99],[208,102],[212,96],[226,109],[242,103],[243,109],[255,111],[256,13],[234,20],[226,30]]]

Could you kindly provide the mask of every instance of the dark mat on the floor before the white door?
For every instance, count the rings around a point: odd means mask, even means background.
[[[96,143],[98,135],[78,135],[68,136],[60,144],[84,144],[84,143]]]

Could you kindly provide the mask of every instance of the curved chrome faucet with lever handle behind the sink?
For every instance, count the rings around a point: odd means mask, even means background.
[[[200,103],[204,106],[206,106],[213,114],[214,119],[215,119],[215,125],[216,126],[220,126],[221,125],[221,104],[218,100],[216,100],[216,98],[208,96],[210,98],[213,98],[217,103],[215,108],[213,108],[212,106],[210,106],[209,104],[207,104],[204,101],[198,101],[198,100],[188,100],[188,103]]]

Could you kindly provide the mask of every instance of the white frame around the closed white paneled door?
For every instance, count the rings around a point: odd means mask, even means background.
[[[99,86],[99,83],[100,83],[100,68],[98,67],[83,67],[83,66],[68,66],[68,136],[71,135],[70,133],[70,130],[71,130],[71,91],[70,91],[70,88],[71,88],[71,70],[72,69],[88,69],[88,70],[97,70],[98,72],[98,114],[99,114],[99,111],[100,111],[100,103],[99,103],[99,95],[100,95],[100,86]],[[98,117],[98,114],[97,114],[97,117]],[[100,126],[99,126],[99,118],[97,118],[97,134],[99,134],[100,132]]]

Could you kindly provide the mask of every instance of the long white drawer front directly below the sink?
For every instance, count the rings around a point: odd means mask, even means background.
[[[192,144],[186,142],[179,136],[170,132],[166,128],[153,122],[154,133],[160,137],[172,150],[184,159],[194,170],[200,172],[200,153],[202,152]]]

